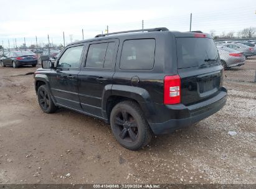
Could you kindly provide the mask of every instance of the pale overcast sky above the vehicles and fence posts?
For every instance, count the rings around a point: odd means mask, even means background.
[[[188,31],[192,13],[192,30],[238,32],[256,27],[256,0],[73,0],[31,1],[0,0],[0,45],[17,46],[47,43],[69,44],[74,40],[92,38],[105,32],[168,27]],[[8,44],[9,40],[9,44]]]

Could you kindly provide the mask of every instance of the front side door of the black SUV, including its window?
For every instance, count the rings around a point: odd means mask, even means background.
[[[50,73],[50,90],[58,104],[82,110],[78,97],[77,76],[82,62],[83,45],[65,49],[57,60],[57,69]]]

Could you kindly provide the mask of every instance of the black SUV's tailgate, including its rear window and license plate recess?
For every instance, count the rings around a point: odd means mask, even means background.
[[[176,46],[181,103],[194,104],[219,93],[223,67],[214,40],[206,37],[177,37]]]

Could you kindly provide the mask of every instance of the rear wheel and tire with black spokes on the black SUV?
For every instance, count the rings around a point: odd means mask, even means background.
[[[153,137],[140,106],[134,101],[116,104],[110,114],[110,125],[116,141],[126,149],[139,150]]]

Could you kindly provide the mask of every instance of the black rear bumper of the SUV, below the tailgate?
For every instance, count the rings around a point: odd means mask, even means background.
[[[149,126],[154,134],[171,133],[176,129],[190,126],[191,124],[211,116],[225,105],[226,100],[227,90],[222,88],[220,93],[213,98],[202,101],[201,103],[193,104],[191,106],[184,106],[183,104],[163,105],[169,109],[165,116],[175,114],[176,119],[168,119],[164,122],[149,121]]]

